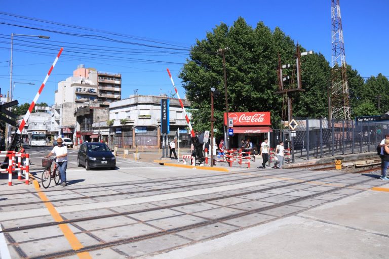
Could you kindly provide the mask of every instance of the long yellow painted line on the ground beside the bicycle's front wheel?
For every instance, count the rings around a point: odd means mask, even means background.
[[[58,211],[55,209],[53,204],[49,201],[47,198],[46,194],[41,190],[41,187],[39,186],[38,181],[36,179],[33,180],[33,184],[35,187],[35,190],[37,191],[39,197],[41,198],[42,201],[45,201],[45,206],[49,210],[50,214],[52,215],[53,219],[56,222],[62,222],[63,219],[61,215],[58,213]],[[71,248],[73,250],[79,250],[83,248],[84,246],[81,244],[79,239],[74,235],[74,233],[70,230],[68,224],[60,224],[58,227],[61,229],[63,235],[71,245]],[[92,256],[89,254],[89,252],[80,252],[77,253],[77,256],[79,256],[80,259],[92,259]]]

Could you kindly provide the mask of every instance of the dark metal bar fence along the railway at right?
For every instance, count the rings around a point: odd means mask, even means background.
[[[292,150],[292,159],[305,160],[376,150],[389,133],[389,122],[356,122],[354,120],[295,119],[295,133],[273,130],[270,147],[284,141]]]

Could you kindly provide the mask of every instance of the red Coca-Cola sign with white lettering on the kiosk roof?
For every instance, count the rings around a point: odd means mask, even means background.
[[[270,112],[231,112],[228,118],[233,120],[234,126],[248,125],[270,125]],[[224,113],[224,124],[226,125],[226,113]]]

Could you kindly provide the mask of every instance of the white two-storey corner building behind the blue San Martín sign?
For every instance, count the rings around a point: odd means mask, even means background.
[[[134,95],[120,101],[109,104],[109,119],[113,120],[111,127],[112,143],[119,147],[161,146],[161,99],[167,99],[166,95],[141,96]],[[169,123],[170,138],[180,132],[181,147],[189,145],[189,132],[187,123],[178,99],[169,98]],[[188,108],[190,102],[182,100],[186,112],[190,117]],[[125,121],[125,123],[123,123]]]

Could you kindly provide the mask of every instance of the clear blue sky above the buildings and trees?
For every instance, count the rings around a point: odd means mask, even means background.
[[[388,5],[389,2],[384,0],[370,2],[342,0],[340,2],[346,61],[357,69],[363,77],[377,75],[378,73],[389,76],[387,66],[389,60],[389,51],[387,50],[387,42],[389,41],[387,30],[389,24]],[[19,103],[30,102],[33,99],[59,50],[56,45],[74,48],[64,48],[63,56],[54,68],[38,102],[53,104],[57,82],[71,76],[72,71],[78,64],[85,64],[86,67],[94,67],[100,71],[122,73],[122,98],[132,95],[135,89],[138,89],[140,95],[159,95],[161,92],[173,92],[174,89],[166,72],[166,68],[169,68],[180,95],[184,96],[184,90],[180,87],[181,82],[177,75],[188,57],[187,49],[195,44],[196,39],[205,38],[206,32],[211,31],[215,25],[220,24],[220,22],[231,25],[240,16],[253,27],[259,21],[263,21],[272,30],[278,26],[292,39],[298,40],[299,44],[305,49],[321,52],[328,61],[331,60],[330,0],[239,2],[202,0],[170,2],[8,0],[2,1],[0,12],[121,33],[131,35],[137,39],[0,14],[0,22],[2,23],[78,34],[104,35],[116,40],[135,42],[136,44],[179,49],[149,48],[0,24],[0,87],[2,94],[6,94],[10,87],[11,33],[49,35],[51,37],[50,39],[17,36],[14,38],[14,81],[35,83],[35,85],[15,84],[14,99],[18,99]],[[139,38],[147,41],[139,40]],[[17,44],[30,46],[17,46]],[[31,46],[52,48],[52,50],[36,49]],[[76,49],[77,47],[87,49]],[[112,47],[123,49],[113,49]],[[110,48],[110,50],[121,51],[141,49],[142,52],[147,53],[100,53],[100,55],[105,56],[90,58],[91,48]],[[42,53],[31,53],[31,51]],[[68,51],[72,51],[72,53]],[[99,50],[94,51],[98,52]],[[126,60],[119,62],[117,58],[112,58],[113,56]],[[142,61],[140,63],[139,60],[134,59],[159,62]]]

